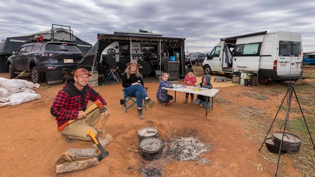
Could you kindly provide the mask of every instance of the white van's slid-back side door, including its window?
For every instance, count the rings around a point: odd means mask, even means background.
[[[236,40],[233,68],[246,67],[258,70],[259,55],[264,35]]]

